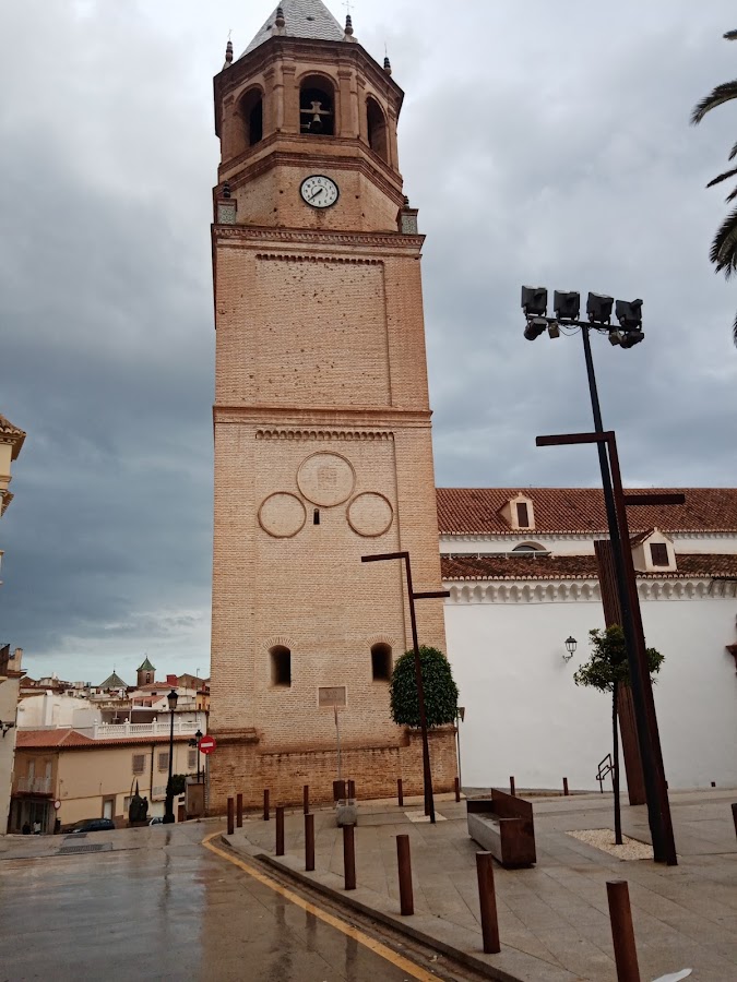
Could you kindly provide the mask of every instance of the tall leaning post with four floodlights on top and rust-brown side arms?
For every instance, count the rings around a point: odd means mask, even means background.
[[[639,597],[637,584],[634,588],[632,587],[634,574],[633,570],[630,570],[632,566],[631,553],[629,553],[629,562],[626,555],[627,516],[625,505],[627,502],[621,488],[619,488],[619,502],[616,500],[617,495],[613,488],[611,471],[615,469],[615,465],[617,477],[619,478],[616,443],[614,443],[614,434],[607,434],[606,436],[604,434],[590,337],[590,332],[594,330],[608,334],[609,342],[622,348],[631,348],[640,344],[644,339],[642,331],[642,300],[617,300],[615,308],[613,297],[589,294],[586,302],[589,321],[586,322],[579,320],[581,309],[579,294],[556,290],[554,302],[556,316],[548,318],[547,290],[543,287],[522,287],[522,308],[527,322],[524,335],[528,340],[539,337],[546,330],[550,337],[556,338],[560,336],[561,326],[563,328],[581,328],[589,392],[594,417],[594,433],[576,434],[578,439],[575,440],[570,439],[571,434],[568,434],[566,438],[540,438],[537,441],[537,445],[557,445],[569,442],[595,442],[597,445],[617,594],[622,614],[622,630],[632,680],[634,716],[647,800],[647,819],[653,839],[653,853],[657,862],[667,862],[668,865],[676,865],[677,857],[673,838],[670,806],[667,799],[655,704],[652,698],[652,683],[646,667]],[[615,308],[619,327],[611,325],[613,308]],[[609,436],[610,439],[608,439]],[[678,498],[678,502],[674,495],[667,495],[668,500],[665,500],[666,495],[651,495],[652,502],[645,502],[643,495],[640,495],[640,498],[643,499],[640,503],[652,504],[675,504],[682,501],[682,495]],[[627,535],[627,542],[629,542],[629,535]]]

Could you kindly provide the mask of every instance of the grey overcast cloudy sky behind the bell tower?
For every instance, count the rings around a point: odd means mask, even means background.
[[[343,20],[345,9],[331,0]],[[207,672],[214,331],[212,76],[270,13],[255,0],[0,5],[0,412],[27,431],[0,643],[35,678]],[[708,262],[705,191],[737,105],[734,4],[358,0],[358,40],[405,89],[405,190],[427,233],[441,486],[581,486],[578,337],[522,336],[520,285],[645,301],[645,343],[594,338],[630,483],[737,480],[737,284]]]

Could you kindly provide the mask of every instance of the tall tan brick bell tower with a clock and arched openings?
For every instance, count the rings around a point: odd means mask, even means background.
[[[411,646],[400,563],[440,588],[417,213],[403,94],[321,0],[285,0],[215,77],[215,531],[212,811],[421,789],[389,711]],[[441,601],[420,640],[444,650]],[[431,734],[437,789],[453,734]]]

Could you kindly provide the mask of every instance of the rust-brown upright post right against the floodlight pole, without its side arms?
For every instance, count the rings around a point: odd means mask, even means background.
[[[625,490],[622,488],[621,471],[619,468],[619,455],[617,453],[617,441],[611,435],[608,441],[609,460],[611,464],[611,477],[614,480],[614,498],[617,507],[617,516],[619,519],[619,528],[622,543],[629,543],[629,525],[627,520],[627,505],[625,503]],[[651,831],[653,825],[658,830],[658,846],[655,846],[655,836],[653,836],[653,852],[656,862],[666,862],[669,866],[678,865],[678,857],[676,854],[676,842],[673,834],[673,819],[670,817],[670,802],[668,801],[668,785],[665,779],[665,767],[663,765],[663,751],[661,749],[661,734],[657,728],[657,716],[655,714],[655,700],[653,699],[653,683],[650,678],[650,668],[647,666],[647,652],[645,649],[645,636],[642,628],[642,616],[640,611],[640,601],[638,596],[637,576],[634,573],[634,564],[632,562],[632,551],[622,549],[622,559],[625,567],[625,582],[627,584],[627,594],[631,600],[629,613],[632,619],[632,627],[634,635],[634,664],[630,660],[630,675],[632,676],[632,696],[634,702],[635,716],[638,717],[638,738],[642,749],[643,740],[647,745],[647,753],[642,754],[643,773],[645,778],[645,792],[647,794],[647,812]],[[629,650],[628,650],[629,655]],[[642,716],[643,735],[640,735]],[[645,766],[646,765],[646,766]],[[652,806],[651,806],[652,801]],[[650,813],[654,811],[654,816]],[[653,818],[655,821],[653,821]]]

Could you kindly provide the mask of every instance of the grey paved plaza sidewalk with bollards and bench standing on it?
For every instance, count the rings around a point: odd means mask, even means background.
[[[523,794],[521,793],[521,797]],[[359,803],[358,889],[343,890],[343,840],[332,810],[316,812],[316,872],[305,873],[304,816],[286,816],[286,855],[274,853],[275,823],[248,818],[224,837],[293,876],[356,903],[400,930],[485,969],[520,982],[616,982],[606,881],[629,882],[644,980],[692,968],[694,982],[737,979],[737,839],[730,802],[737,791],[674,792],[670,797],[679,865],[625,862],[567,835],[611,827],[611,795],[534,798],[537,865],[495,865],[500,955],[482,951],[475,854],[465,802],[437,799],[447,821],[417,824],[421,801]],[[622,807],[626,835],[650,841],[644,806]],[[400,917],[395,836],[409,836],[415,914]],[[452,951],[451,951],[452,949]]]

